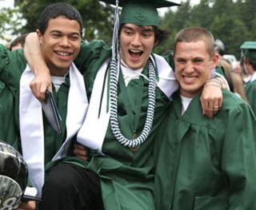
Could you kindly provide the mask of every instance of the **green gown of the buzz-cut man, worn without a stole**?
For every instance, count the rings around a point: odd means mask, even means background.
[[[223,91],[222,109],[202,115],[199,96],[181,116],[178,93],[155,145],[155,203],[159,210],[256,209],[255,117]]]

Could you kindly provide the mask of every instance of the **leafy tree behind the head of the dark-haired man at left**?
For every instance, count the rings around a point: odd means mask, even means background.
[[[58,0],[15,0],[15,5],[20,8],[22,17],[26,19],[26,25],[22,30],[34,31],[37,28],[38,18],[42,10],[49,4]],[[65,0],[62,2],[74,6],[82,15],[84,26],[84,38],[91,41],[94,38],[102,38],[110,42],[111,28],[114,19],[113,9],[110,6],[102,6],[95,0]]]

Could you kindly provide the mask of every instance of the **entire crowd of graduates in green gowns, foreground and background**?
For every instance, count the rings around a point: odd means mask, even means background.
[[[81,14],[62,2],[0,45],[0,141],[27,179],[15,200],[0,186],[0,209],[256,209],[256,41],[232,65],[191,26],[162,57],[157,8],[177,4],[119,6],[111,47],[83,41]]]

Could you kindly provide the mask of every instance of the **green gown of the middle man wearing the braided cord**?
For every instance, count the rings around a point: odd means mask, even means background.
[[[89,46],[82,46],[78,59],[75,61],[84,75],[89,101],[94,77],[103,61],[110,57],[110,52],[110,49],[106,49],[102,42],[93,42]],[[143,69],[143,73],[148,76],[148,69]],[[102,152],[106,156],[92,154],[90,160],[86,162],[74,157],[66,158],[66,162],[78,164],[98,174],[106,210],[154,209],[153,149],[154,139],[158,138],[155,137],[155,131],[165,117],[168,102],[166,95],[157,88],[154,125],[150,137],[140,145],[138,151],[133,152],[122,146],[113,136],[109,125],[102,145]],[[125,137],[131,138],[142,132],[146,120],[147,104],[148,81],[140,77],[130,81],[126,87],[120,73],[118,121]]]

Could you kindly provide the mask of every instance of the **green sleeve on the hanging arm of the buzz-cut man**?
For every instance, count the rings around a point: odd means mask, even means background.
[[[222,147],[229,209],[256,209],[255,118],[246,104],[230,112]]]

